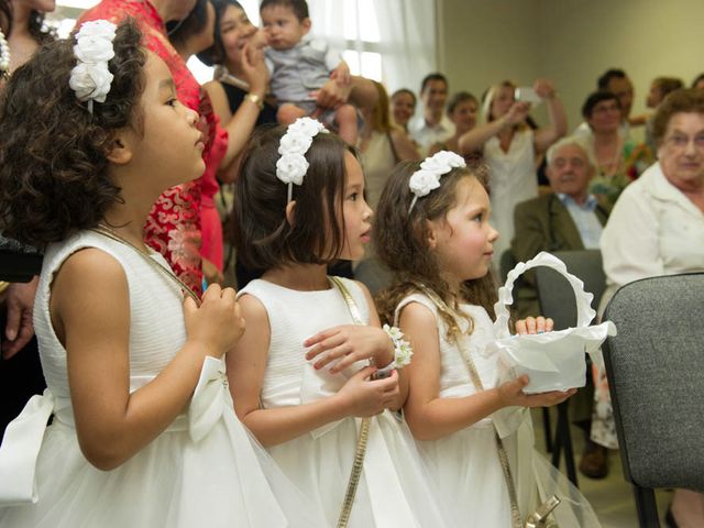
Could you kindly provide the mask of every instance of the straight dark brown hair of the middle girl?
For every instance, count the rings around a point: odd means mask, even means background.
[[[287,264],[328,264],[344,243],[338,220],[346,182],[344,153],[355,155],[336,134],[318,134],[306,153],[302,185],[293,186],[294,221],[286,219],[288,185],[276,177],[285,127],[264,129],[250,139],[234,188],[233,243],[238,260],[256,270]],[[326,226],[328,229],[326,229]]]

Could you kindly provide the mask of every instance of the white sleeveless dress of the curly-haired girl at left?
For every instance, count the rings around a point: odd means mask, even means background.
[[[0,526],[324,526],[309,513],[312,507],[301,507],[304,496],[237,419],[221,360],[204,362],[188,408],[122,465],[100,471],[86,460],[76,436],[66,351],[48,309],[55,273],[84,248],[110,254],[127,275],[130,391],[151,382],[186,340],[178,285],[143,255],[94,232],[50,245],[34,310],[48,388],[30,399],[0,447]],[[168,270],[158,253],[151,257]],[[53,421],[46,426],[50,415]]]

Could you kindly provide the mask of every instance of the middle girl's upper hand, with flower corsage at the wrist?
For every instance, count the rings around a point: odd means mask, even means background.
[[[394,343],[384,330],[370,324],[329,328],[308,338],[304,346],[312,346],[306,353],[306,360],[318,358],[314,365],[317,370],[339,360],[330,367],[332,374],[360,360],[374,360],[380,367],[394,361]]]

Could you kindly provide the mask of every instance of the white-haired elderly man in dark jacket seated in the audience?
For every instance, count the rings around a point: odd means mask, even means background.
[[[608,206],[600,204],[587,193],[595,164],[584,140],[565,138],[548,150],[547,176],[552,193],[516,206],[516,234],[512,251],[517,261],[528,261],[541,251],[598,249],[602,228],[606,223]],[[517,316],[540,314],[535,275],[525,273],[517,287]],[[580,471],[590,477],[606,476],[606,450],[588,439],[592,418],[593,385],[571,398],[570,409],[575,425],[585,432],[585,449]]]

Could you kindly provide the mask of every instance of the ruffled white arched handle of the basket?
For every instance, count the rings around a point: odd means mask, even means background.
[[[494,305],[494,311],[496,312],[496,321],[494,322],[494,334],[497,339],[508,338],[510,336],[508,329],[508,320],[510,315],[508,312],[508,306],[514,302],[513,289],[516,279],[522,275],[527,270],[531,270],[538,266],[551,267],[564,278],[568,279],[572,290],[574,292],[574,298],[576,300],[576,327],[588,327],[590,322],[596,316],[596,311],[592,308],[592,300],[594,300],[594,294],[584,292],[584,283],[568,272],[568,267],[560,258],[551,253],[541,251],[534,258],[528,262],[519,262],[516,264],[506,277],[506,284],[498,288],[498,300]]]

